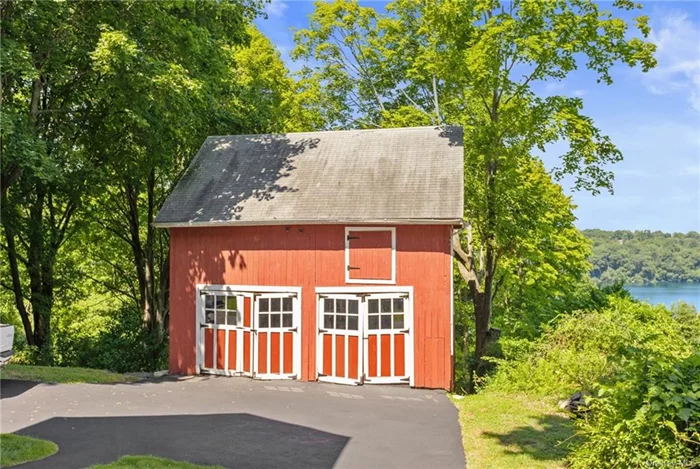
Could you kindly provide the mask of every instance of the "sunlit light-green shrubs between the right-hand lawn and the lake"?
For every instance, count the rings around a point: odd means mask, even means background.
[[[687,357],[698,337],[663,306],[611,298],[610,306],[563,315],[531,353],[498,360],[487,387],[554,398],[592,392],[615,382],[629,360],[643,352],[659,359]]]

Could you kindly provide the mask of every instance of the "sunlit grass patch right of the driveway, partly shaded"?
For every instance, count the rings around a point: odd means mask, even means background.
[[[469,469],[566,467],[574,425],[552,404],[494,392],[453,402]]]

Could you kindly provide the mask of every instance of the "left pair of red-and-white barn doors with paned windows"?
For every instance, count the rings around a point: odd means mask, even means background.
[[[225,285],[199,289],[199,373],[258,379],[299,377],[300,292],[256,290]]]

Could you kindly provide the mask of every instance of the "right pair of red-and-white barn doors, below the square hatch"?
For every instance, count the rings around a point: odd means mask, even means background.
[[[347,290],[317,295],[319,381],[412,384],[411,292]]]

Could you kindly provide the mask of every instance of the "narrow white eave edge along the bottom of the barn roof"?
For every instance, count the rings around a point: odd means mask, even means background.
[[[212,228],[230,226],[289,226],[289,225],[450,225],[462,226],[461,218],[411,218],[411,219],[334,219],[334,220],[270,220],[270,221],[194,221],[177,223],[153,223],[156,228]]]

